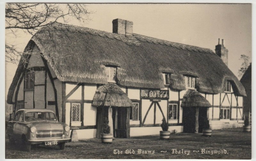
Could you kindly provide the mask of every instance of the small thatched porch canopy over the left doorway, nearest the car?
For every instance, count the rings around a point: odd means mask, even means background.
[[[127,94],[114,83],[100,86],[93,97],[92,106],[96,107],[132,107]]]

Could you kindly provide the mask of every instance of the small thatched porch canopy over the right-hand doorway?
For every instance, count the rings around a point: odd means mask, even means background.
[[[180,106],[183,108],[184,107],[211,107],[211,104],[196,90],[188,89],[183,96]]]

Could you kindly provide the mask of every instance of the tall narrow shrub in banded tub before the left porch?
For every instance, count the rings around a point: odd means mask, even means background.
[[[112,143],[113,141],[113,134],[110,134],[110,127],[108,125],[108,118],[104,118],[102,134],[100,134],[101,142],[102,143]]]

